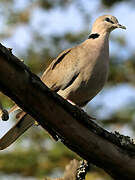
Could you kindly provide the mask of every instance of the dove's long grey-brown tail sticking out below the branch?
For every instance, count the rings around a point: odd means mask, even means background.
[[[3,150],[11,145],[34,123],[35,120],[31,116],[29,116],[25,112],[22,112],[19,121],[0,139],[0,150]]]

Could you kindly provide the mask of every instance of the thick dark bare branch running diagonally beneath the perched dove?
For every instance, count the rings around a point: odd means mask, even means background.
[[[135,179],[135,145],[128,137],[97,126],[86,113],[48,89],[1,44],[0,65],[0,90],[43,128],[52,129],[68,148],[116,180]]]

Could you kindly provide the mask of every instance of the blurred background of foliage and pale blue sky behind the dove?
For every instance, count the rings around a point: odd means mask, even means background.
[[[62,50],[88,37],[90,23],[99,14],[106,12],[117,16],[119,12],[118,19],[123,23],[126,15],[120,13],[121,8],[133,6],[133,0],[0,1],[1,43],[13,47],[13,53],[21,57],[24,63],[40,76]],[[134,37],[132,35],[124,38],[125,36],[126,32],[122,34],[117,31],[112,34],[109,81],[100,95],[85,109],[96,116],[99,123],[107,129],[117,130],[133,137],[135,96],[131,96],[131,91],[134,93],[135,63],[134,46],[133,43],[129,44],[131,43],[129,38]],[[124,101],[125,97],[129,98]],[[0,98],[6,108],[13,105],[13,102],[3,94]],[[121,106],[120,99],[123,99]],[[14,118],[12,120],[14,121]],[[1,136],[3,130],[7,131],[10,123],[1,122]],[[74,157],[79,158],[63,144],[52,141],[42,128],[33,127],[14,145],[0,153],[1,179],[7,178],[8,175],[8,179],[32,177],[34,180],[35,177],[43,178],[49,175],[56,177]],[[17,176],[11,175],[15,173]],[[88,179],[99,178],[111,179],[101,169],[93,167]]]

